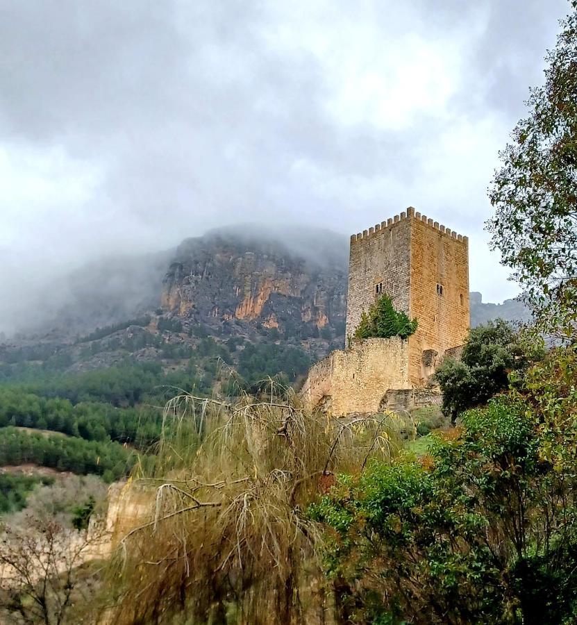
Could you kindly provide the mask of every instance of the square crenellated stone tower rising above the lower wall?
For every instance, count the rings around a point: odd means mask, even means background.
[[[415,213],[351,237],[346,337],[362,311],[381,294],[419,322],[408,339],[408,382],[418,386],[433,373],[446,350],[462,345],[469,329],[469,242],[467,237]]]

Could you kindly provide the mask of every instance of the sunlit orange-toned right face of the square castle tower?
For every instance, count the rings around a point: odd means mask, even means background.
[[[419,385],[447,349],[467,338],[469,244],[419,213],[410,217],[410,231],[410,317],[419,326],[409,338],[409,371],[411,383]]]

